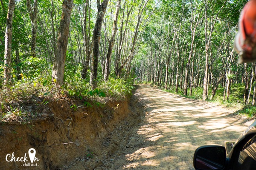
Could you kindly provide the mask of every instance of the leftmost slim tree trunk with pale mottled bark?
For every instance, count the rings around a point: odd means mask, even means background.
[[[5,48],[4,48],[4,85],[10,83],[11,79],[11,52],[12,52],[12,18],[14,14],[15,0],[9,0],[7,18],[6,18],[6,33],[5,33]]]

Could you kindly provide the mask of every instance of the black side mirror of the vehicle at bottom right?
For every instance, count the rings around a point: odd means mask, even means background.
[[[201,146],[195,150],[195,170],[224,170],[226,165],[226,149],[222,146]]]

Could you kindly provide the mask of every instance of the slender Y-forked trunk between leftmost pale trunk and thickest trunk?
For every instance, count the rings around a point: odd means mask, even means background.
[[[32,26],[32,40],[31,40],[31,56],[36,57],[35,47],[36,47],[36,32],[37,32],[37,13],[38,13],[38,3],[34,0],[34,8],[32,9],[32,4],[30,0],[27,0],[27,8],[29,11],[29,17]]]

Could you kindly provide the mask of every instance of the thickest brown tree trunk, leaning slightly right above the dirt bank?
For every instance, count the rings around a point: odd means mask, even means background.
[[[52,80],[56,83],[56,85],[62,85],[64,81],[64,66],[72,8],[73,0],[63,0],[61,23],[58,31],[57,47],[54,53],[55,57],[52,68]]]

